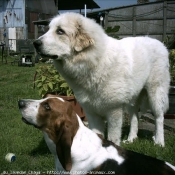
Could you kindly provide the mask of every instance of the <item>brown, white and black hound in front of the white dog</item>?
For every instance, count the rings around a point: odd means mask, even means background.
[[[171,164],[124,150],[83,125],[69,102],[59,97],[18,102],[25,123],[44,133],[56,170],[71,174],[111,171],[117,175],[175,175]],[[96,172],[98,171],[98,172]]]

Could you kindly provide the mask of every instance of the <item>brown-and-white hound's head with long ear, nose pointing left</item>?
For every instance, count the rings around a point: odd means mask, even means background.
[[[26,124],[46,132],[53,140],[62,166],[69,171],[72,166],[71,145],[78,130],[77,116],[71,104],[59,97],[47,97],[19,100],[18,106]]]

